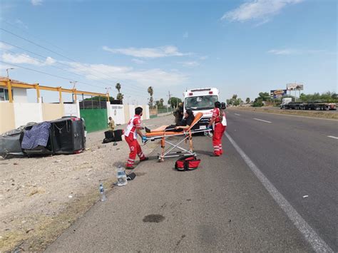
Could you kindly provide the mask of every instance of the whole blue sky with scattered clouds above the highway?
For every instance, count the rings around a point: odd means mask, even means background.
[[[113,96],[119,82],[126,102],[146,103],[148,86],[165,100],[168,91],[182,97],[185,88],[205,86],[219,88],[222,100],[253,99],[295,81],[304,93],[337,92],[335,0],[0,3],[1,29],[50,50],[0,30],[1,41],[14,45],[0,43],[1,61],[78,81],[85,91],[111,86]],[[10,66],[0,64],[5,76]],[[71,87],[14,68],[13,79]]]

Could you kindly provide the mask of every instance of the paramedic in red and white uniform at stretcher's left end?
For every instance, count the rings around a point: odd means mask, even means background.
[[[142,138],[143,142],[146,142],[148,139],[143,135],[141,132],[142,126],[141,126],[141,117],[142,117],[142,111],[143,109],[138,107],[135,108],[135,115],[133,118],[129,120],[129,123],[127,125],[127,129],[124,133],[126,142],[129,145],[130,153],[129,158],[127,161],[126,169],[133,170],[133,165],[135,162],[136,155],[140,158],[140,162],[143,162],[145,160],[148,160],[148,158],[145,157],[143,154],[140,144],[138,144],[138,135]]]

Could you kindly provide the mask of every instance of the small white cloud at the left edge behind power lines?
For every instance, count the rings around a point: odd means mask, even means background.
[[[51,57],[47,57],[45,61],[40,61],[36,58],[33,58],[29,56],[26,53],[3,53],[1,56],[2,60],[7,63],[13,63],[13,64],[30,64],[34,66],[46,66],[46,65],[52,65],[56,63],[56,60],[54,60]]]

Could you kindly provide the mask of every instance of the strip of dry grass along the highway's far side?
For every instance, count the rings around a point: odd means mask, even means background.
[[[297,116],[305,116],[311,118],[328,118],[332,120],[338,120],[338,113],[333,113],[329,111],[320,111],[320,110],[275,110],[274,108],[254,108],[254,107],[229,107],[227,110],[249,110],[255,112],[262,113],[275,113],[275,114],[285,114],[285,115],[297,115]]]

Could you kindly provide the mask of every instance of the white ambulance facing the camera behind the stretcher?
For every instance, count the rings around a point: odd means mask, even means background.
[[[203,113],[203,118],[194,129],[205,129],[212,117],[212,110],[215,102],[219,101],[218,95],[220,91],[217,88],[194,88],[185,91],[184,95],[184,111],[193,110],[194,114]]]

